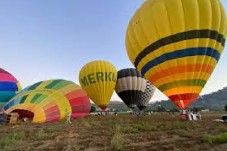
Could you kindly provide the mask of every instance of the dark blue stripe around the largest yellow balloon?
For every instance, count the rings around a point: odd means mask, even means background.
[[[151,61],[149,61],[145,66],[143,66],[141,73],[145,75],[145,73],[153,68],[154,66],[157,66],[165,61],[173,60],[173,59],[179,59],[183,57],[189,57],[189,56],[210,56],[212,58],[215,58],[217,61],[220,58],[220,53],[213,49],[213,48],[206,48],[206,47],[198,47],[198,48],[188,48],[183,50],[177,50],[174,52],[166,53],[164,55],[161,55],[160,57],[157,57]]]

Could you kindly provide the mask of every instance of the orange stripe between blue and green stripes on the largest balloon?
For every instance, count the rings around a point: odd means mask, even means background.
[[[188,65],[181,65],[177,67],[171,67],[162,71],[157,72],[156,74],[150,77],[151,82],[155,82],[160,78],[168,76],[167,73],[171,74],[178,74],[184,72],[207,72],[209,74],[212,73],[214,67],[207,64],[188,64]]]

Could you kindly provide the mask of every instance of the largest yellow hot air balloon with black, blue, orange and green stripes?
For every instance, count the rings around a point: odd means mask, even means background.
[[[218,63],[226,22],[220,0],[148,0],[129,22],[127,53],[146,79],[185,109]]]

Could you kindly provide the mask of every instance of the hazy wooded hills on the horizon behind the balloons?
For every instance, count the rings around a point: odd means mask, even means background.
[[[200,96],[194,103],[189,107],[193,108],[208,108],[211,110],[224,110],[224,106],[227,104],[227,87],[216,92]],[[157,110],[158,106],[164,107],[165,109],[177,109],[177,106],[169,100],[156,101],[148,106],[148,109]],[[123,102],[111,101],[110,108],[128,109]]]

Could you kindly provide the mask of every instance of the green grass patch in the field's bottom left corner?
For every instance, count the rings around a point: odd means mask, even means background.
[[[24,138],[25,134],[23,132],[12,132],[7,134],[6,136],[1,136],[0,148],[2,150],[10,150]]]

